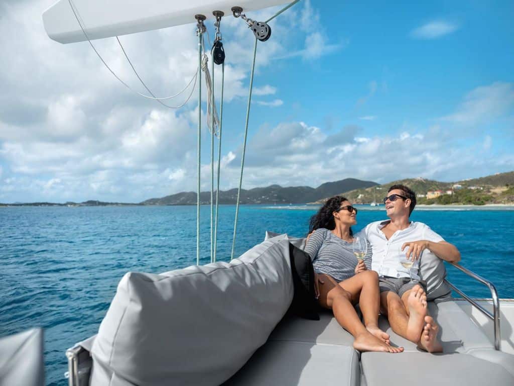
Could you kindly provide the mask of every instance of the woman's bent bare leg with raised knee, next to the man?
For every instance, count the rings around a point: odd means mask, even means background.
[[[375,271],[360,272],[339,283],[339,286],[351,293],[354,304],[359,303],[366,328],[374,336],[389,344],[389,334],[378,328],[380,290],[377,273]]]

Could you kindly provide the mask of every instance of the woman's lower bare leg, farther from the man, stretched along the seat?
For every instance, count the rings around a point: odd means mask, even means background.
[[[381,351],[399,353],[403,348],[392,347],[371,332],[361,323],[352,304],[352,294],[341,288],[332,277],[319,274],[323,282],[319,284],[320,304],[334,312],[338,323],[355,338],[353,346],[360,351]],[[378,314],[378,311],[377,311]]]

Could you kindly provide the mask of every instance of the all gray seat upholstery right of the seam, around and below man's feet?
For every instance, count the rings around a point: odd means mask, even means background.
[[[480,327],[455,302],[429,302],[429,312],[439,324],[443,354],[421,352],[414,343],[396,335],[380,317],[380,327],[405,352],[363,353],[362,372],[368,386],[514,384],[514,356],[494,350]]]

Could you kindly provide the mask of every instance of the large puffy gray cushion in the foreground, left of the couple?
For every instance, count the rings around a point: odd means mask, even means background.
[[[292,296],[286,239],[230,264],[127,273],[91,349],[91,385],[222,383],[266,342]]]

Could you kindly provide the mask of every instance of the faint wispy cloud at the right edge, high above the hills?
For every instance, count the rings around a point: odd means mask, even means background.
[[[444,121],[474,126],[506,114],[514,106],[514,84],[495,82],[476,87],[469,92],[455,113],[442,117]]]

